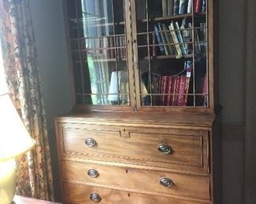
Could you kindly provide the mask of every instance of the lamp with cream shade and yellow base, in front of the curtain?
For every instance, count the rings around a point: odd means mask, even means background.
[[[15,158],[35,146],[7,93],[0,93],[0,203],[13,201]]]

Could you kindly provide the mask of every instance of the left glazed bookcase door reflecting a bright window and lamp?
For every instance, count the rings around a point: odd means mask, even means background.
[[[124,1],[65,1],[76,104],[131,107]]]

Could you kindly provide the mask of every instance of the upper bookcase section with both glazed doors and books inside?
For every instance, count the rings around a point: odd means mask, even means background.
[[[213,112],[213,0],[64,0],[76,107]]]

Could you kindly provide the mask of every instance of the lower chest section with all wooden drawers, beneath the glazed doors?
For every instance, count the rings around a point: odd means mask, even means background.
[[[62,202],[213,203],[213,126],[174,123],[57,118]]]

